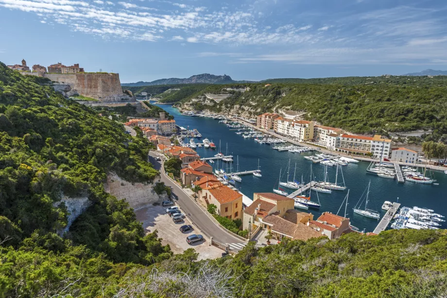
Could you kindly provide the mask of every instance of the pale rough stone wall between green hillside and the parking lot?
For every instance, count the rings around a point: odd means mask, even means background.
[[[133,209],[139,209],[168,199],[166,193],[158,196],[152,186],[152,184],[127,182],[116,174],[109,174],[104,188],[107,193],[118,199],[125,199]]]

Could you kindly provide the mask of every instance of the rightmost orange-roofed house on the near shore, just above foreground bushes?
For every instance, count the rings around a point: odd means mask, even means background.
[[[317,232],[322,232],[329,239],[335,239],[344,233],[352,232],[349,218],[323,212],[317,220],[310,220],[308,226]]]

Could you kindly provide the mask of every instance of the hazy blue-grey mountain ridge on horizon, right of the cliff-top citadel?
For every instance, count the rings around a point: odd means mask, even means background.
[[[151,85],[172,85],[172,84],[231,84],[249,83],[248,81],[233,81],[230,76],[216,76],[209,73],[191,76],[188,79],[160,79],[152,82],[122,83],[121,86],[151,86]]]

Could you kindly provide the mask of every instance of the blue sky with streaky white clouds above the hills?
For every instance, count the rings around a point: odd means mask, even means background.
[[[0,61],[122,83],[447,69],[445,0],[0,0]]]

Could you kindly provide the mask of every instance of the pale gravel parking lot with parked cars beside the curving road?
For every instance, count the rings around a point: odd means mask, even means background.
[[[182,211],[180,209],[180,211]],[[182,212],[183,213],[183,212]],[[186,237],[191,234],[201,234],[200,231],[189,222],[188,215],[183,222],[174,223],[172,218],[166,214],[166,208],[161,206],[148,206],[135,211],[137,219],[143,223],[146,232],[158,231],[158,237],[162,238],[162,244],[169,244],[174,253],[182,253],[188,248],[194,248],[199,253],[199,260],[215,259],[222,256],[223,250],[209,246],[209,239],[204,236],[205,241],[188,244]],[[191,225],[192,230],[180,232],[183,225]]]

